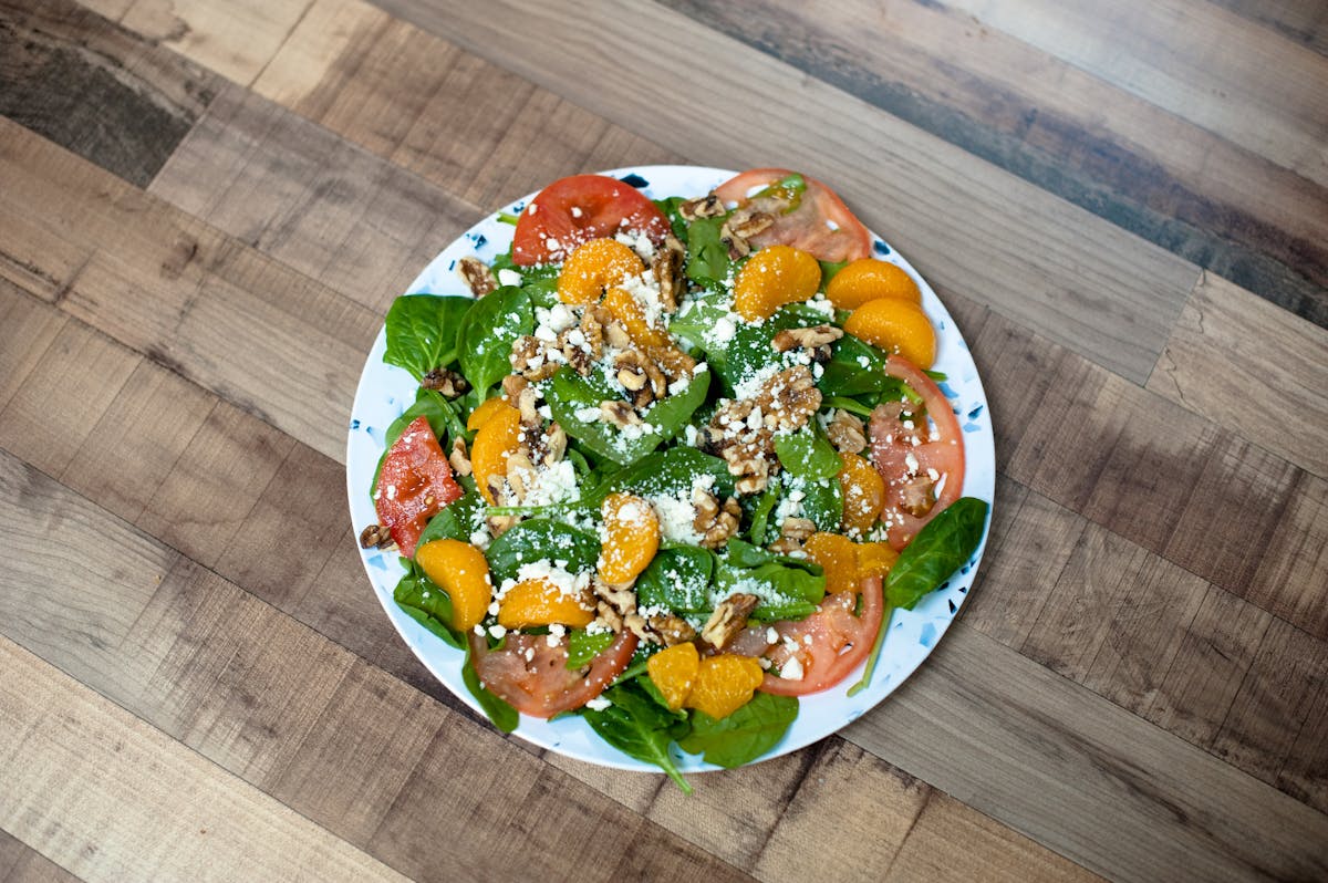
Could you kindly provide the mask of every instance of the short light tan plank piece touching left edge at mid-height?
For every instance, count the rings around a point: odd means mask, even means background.
[[[62,324],[0,410],[0,447],[58,475],[141,361],[81,321]]]

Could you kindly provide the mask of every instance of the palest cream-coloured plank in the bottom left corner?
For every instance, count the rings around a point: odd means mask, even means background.
[[[77,876],[400,880],[0,639],[0,825]]]

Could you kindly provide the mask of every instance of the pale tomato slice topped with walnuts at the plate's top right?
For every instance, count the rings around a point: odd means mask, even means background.
[[[752,169],[724,182],[714,193],[725,204],[752,206],[774,218],[773,226],[752,236],[750,243],[757,248],[793,246],[827,263],[870,258],[871,234],[843,201],[815,178],[802,175],[806,190],[797,197],[778,191],[756,195],[791,174],[788,169]]]

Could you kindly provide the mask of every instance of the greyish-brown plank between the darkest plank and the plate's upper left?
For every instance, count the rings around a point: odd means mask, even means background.
[[[219,92],[150,193],[378,313],[479,218],[235,86]]]

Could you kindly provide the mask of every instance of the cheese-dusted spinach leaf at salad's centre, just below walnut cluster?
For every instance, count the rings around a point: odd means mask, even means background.
[[[598,417],[583,414],[586,410],[598,414],[602,401],[619,398],[607,382],[598,382],[594,374],[586,378],[571,368],[560,368],[544,390],[544,398],[554,420],[568,436],[580,441],[592,453],[625,465],[640,459],[676,436],[705,401],[709,388],[710,373],[708,370],[697,373],[687,389],[651,405],[641,416],[641,420],[651,426],[651,432],[635,436],[627,436],[618,426]]]

